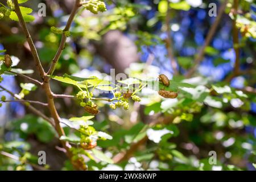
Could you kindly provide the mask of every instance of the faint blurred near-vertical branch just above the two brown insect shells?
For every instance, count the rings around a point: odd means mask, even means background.
[[[170,28],[170,16],[171,16],[171,9],[168,6],[168,10],[167,10],[167,15],[166,15],[166,34],[167,34],[167,38],[166,38],[166,49],[167,49],[167,53],[168,53],[168,57],[171,61],[171,67],[172,70],[174,71],[174,75],[178,74],[177,71],[177,61],[174,57],[174,51],[173,51],[173,46],[172,46],[172,37],[171,37],[171,28]]]

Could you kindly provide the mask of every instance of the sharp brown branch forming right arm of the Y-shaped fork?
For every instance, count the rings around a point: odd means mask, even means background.
[[[52,75],[53,72],[55,71],[55,67],[56,67],[56,64],[57,64],[57,61],[60,59],[60,55],[61,53],[63,52],[63,49],[65,47],[65,42],[67,40],[67,36],[65,36],[64,32],[65,31],[69,31],[70,27],[71,27],[71,24],[73,22],[73,19],[75,18],[75,15],[76,15],[76,12],[77,10],[79,9],[80,7],[80,1],[79,0],[76,0],[75,2],[75,5],[73,6],[73,9],[71,11],[71,14],[68,18],[68,22],[63,30],[63,34],[61,36],[61,41],[60,41],[60,46],[56,52],[56,55],[53,57],[53,60],[52,60],[52,64],[49,68],[49,71],[47,72],[47,75]],[[48,80],[50,79],[50,77],[48,77]]]

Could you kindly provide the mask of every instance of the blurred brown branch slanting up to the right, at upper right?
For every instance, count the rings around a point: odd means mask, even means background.
[[[208,32],[207,38],[205,39],[204,45],[203,45],[203,47],[201,47],[199,54],[196,56],[195,65],[191,69],[189,69],[189,71],[186,74],[187,78],[191,77],[193,75],[193,73],[195,73],[197,67],[199,67],[199,64],[204,59],[205,48],[207,48],[207,46],[209,46],[210,42],[212,41],[212,38],[217,30],[218,24],[220,24],[221,17],[224,14],[227,3],[228,3],[228,0],[225,0],[222,3],[220,10],[218,12],[218,15],[217,15],[214,23],[212,24],[212,27],[210,27],[210,30]]]

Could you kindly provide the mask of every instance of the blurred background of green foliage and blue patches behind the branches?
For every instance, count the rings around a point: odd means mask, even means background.
[[[42,2],[46,4],[45,17],[38,15],[38,5]],[[143,77],[147,73],[156,80],[163,73],[176,83],[195,85],[181,86],[179,96],[173,100],[143,89],[139,94],[142,101],[130,101],[129,110],[112,110],[108,102],[97,102],[100,113],[92,119],[93,127],[113,137],[99,141],[97,147],[112,160],[86,158],[90,170],[255,170],[256,5],[253,1],[239,1],[236,19],[239,43],[234,45],[233,40],[234,1],[228,1],[204,56],[198,65],[195,62],[217,19],[209,16],[209,3],[216,4],[218,14],[224,2],[113,0],[105,1],[104,13],[79,10],[55,75],[103,78],[110,75],[110,69],[115,69],[116,75]],[[28,29],[44,68],[49,67],[61,39],[51,27],[65,26],[73,3],[73,0],[34,0],[22,5],[33,9],[35,20],[28,23]],[[30,48],[19,24],[8,18],[0,21],[0,50],[6,49],[12,56],[14,68],[39,78],[33,72]],[[233,75],[236,49],[239,49],[240,73]],[[195,73],[185,77],[193,67]],[[11,92],[25,94],[27,100],[46,102],[42,89],[24,86],[28,80],[7,74],[2,77],[0,85]],[[72,85],[57,81],[51,81],[51,88],[60,94],[79,92]],[[112,93],[94,94],[113,97]],[[0,92],[3,95],[6,100],[13,99]],[[63,119],[88,115],[71,98],[57,98],[55,102]],[[35,107],[49,115],[46,107]],[[63,127],[66,134],[71,133],[71,129]],[[52,126],[19,102],[2,104],[0,136],[0,151],[11,154],[11,158],[0,155],[1,170],[72,169],[65,154],[56,147],[60,142]],[[47,165],[43,167],[36,164],[38,151],[42,150],[47,154]],[[217,154],[214,165],[209,164],[210,151]]]

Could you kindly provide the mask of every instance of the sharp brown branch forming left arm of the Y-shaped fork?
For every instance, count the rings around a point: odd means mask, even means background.
[[[18,16],[20,26],[22,27],[23,32],[26,35],[28,45],[30,46],[32,56],[35,60],[36,68],[38,69],[40,77],[43,80],[44,76],[46,76],[46,73],[44,72],[43,66],[42,66],[42,64],[40,62],[40,59],[39,59],[39,56],[38,56],[38,52],[36,51],[35,44],[34,44],[32,38],[31,38],[30,32],[28,31],[27,25],[26,25],[26,23],[23,19],[22,13],[21,13],[20,8],[19,8],[18,0],[14,0],[14,9],[15,9],[15,13]]]

